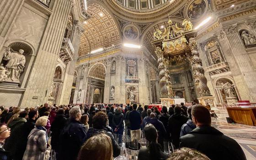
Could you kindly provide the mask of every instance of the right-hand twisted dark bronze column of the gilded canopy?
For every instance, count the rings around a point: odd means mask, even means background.
[[[209,88],[207,86],[207,79],[204,76],[204,69],[202,65],[202,60],[199,57],[199,52],[197,50],[197,41],[194,38],[190,39],[189,47],[191,49],[191,54],[188,57],[193,70],[193,77],[196,82],[196,90],[198,96],[211,96]],[[199,87],[198,87],[199,82]]]

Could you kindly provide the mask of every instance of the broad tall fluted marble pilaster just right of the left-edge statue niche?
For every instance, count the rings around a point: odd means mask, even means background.
[[[12,4],[15,4],[12,2]],[[48,101],[59,50],[71,8],[70,0],[55,0],[41,43],[37,50],[31,76],[27,80],[20,106],[34,106]],[[37,98],[32,98],[36,96]]]

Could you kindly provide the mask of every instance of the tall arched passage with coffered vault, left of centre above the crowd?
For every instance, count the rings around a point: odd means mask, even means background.
[[[87,75],[86,103],[103,103],[106,66],[96,63],[91,66]]]

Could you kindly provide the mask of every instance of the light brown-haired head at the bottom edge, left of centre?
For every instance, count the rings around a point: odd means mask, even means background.
[[[99,133],[88,139],[81,147],[77,160],[113,160],[111,138]]]

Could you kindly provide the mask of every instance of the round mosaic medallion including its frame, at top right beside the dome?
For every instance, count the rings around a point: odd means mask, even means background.
[[[207,12],[207,0],[192,0],[187,5],[185,16],[191,21],[199,21]]]

